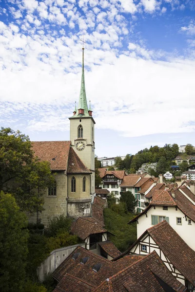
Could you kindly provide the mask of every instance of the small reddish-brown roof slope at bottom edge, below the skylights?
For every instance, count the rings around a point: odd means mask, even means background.
[[[74,275],[65,274],[53,292],[91,292],[95,288],[96,286],[89,284]]]

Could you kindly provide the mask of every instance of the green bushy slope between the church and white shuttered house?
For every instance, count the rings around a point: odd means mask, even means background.
[[[131,213],[117,214],[110,208],[104,209],[105,228],[115,236],[110,240],[117,246],[119,251],[124,252],[137,239],[137,227],[135,224],[127,224],[133,218]]]

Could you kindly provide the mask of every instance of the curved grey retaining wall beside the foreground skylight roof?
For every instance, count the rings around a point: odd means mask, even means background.
[[[44,281],[46,275],[53,273],[59,265],[66,259],[78,246],[85,248],[85,243],[62,247],[50,253],[39,266],[37,273],[40,281]]]

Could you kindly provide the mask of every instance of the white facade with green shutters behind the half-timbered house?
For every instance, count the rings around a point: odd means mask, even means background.
[[[152,224],[152,215],[158,216],[158,222],[165,220],[165,217],[167,217],[167,221],[169,221],[171,227],[195,251],[195,240],[193,240],[195,222],[185,217],[183,212],[175,206],[168,206],[168,210],[163,210],[163,206],[151,206],[147,214],[143,214],[137,219],[137,238],[139,238],[146,229],[154,226]],[[178,219],[181,219],[181,224],[178,224]]]

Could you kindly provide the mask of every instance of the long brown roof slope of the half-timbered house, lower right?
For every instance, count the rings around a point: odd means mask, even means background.
[[[172,265],[194,285],[195,251],[187,245],[167,221],[156,224],[147,229],[147,232]]]

